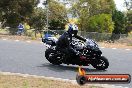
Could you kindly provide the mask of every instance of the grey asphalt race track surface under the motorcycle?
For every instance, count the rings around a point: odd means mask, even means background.
[[[75,80],[78,66],[52,65],[45,59],[45,50],[45,45],[39,42],[0,39],[0,72]],[[101,50],[109,60],[109,68],[106,71],[99,71],[92,66],[84,67],[88,74],[132,75],[132,50],[116,48]],[[114,85],[132,88],[132,82]]]

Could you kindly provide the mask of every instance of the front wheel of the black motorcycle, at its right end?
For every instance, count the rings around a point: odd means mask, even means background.
[[[101,57],[95,59],[95,60],[91,63],[91,65],[92,65],[94,68],[98,69],[98,70],[105,70],[105,69],[107,69],[108,66],[109,66],[109,61],[108,61],[108,59],[107,59],[106,57],[101,56]]]

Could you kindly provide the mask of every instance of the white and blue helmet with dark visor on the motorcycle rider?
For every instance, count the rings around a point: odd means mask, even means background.
[[[68,31],[70,35],[75,36],[78,33],[78,27],[75,24],[69,24],[68,25]]]

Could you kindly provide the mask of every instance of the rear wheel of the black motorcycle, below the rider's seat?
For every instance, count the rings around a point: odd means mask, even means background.
[[[47,49],[46,51],[45,51],[45,57],[46,57],[46,59],[50,62],[50,63],[52,63],[52,64],[54,64],[54,65],[60,65],[60,64],[62,64],[60,61],[58,61],[59,59],[59,57],[58,57],[58,55],[56,54],[56,51],[55,50],[53,50],[53,49]]]

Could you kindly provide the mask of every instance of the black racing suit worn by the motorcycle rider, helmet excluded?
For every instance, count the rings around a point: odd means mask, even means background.
[[[67,59],[72,56],[76,56],[76,54],[77,54],[77,51],[74,50],[71,46],[72,37],[75,37],[82,41],[86,41],[86,39],[84,39],[78,35],[72,36],[68,32],[63,33],[57,41],[56,48],[59,49],[62,53],[65,53],[67,56],[66,57]]]

